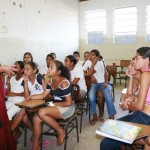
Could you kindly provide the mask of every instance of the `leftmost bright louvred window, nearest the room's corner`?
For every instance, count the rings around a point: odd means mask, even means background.
[[[88,44],[106,43],[106,10],[89,10],[85,13]]]

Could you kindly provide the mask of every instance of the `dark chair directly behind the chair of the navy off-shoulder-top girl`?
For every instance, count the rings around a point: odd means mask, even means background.
[[[80,99],[79,92],[80,92],[79,85],[72,84],[72,99],[74,100],[76,105],[77,115],[80,116],[80,133],[81,133],[83,114],[85,112],[87,113],[87,109],[88,109],[88,99],[87,98]]]

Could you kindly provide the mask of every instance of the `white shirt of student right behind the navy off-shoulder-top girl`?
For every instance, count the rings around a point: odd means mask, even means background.
[[[70,74],[71,81],[73,81],[75,78],[80,78],[77,84],[79,85],[80,89],[87,91],[83,68],[81,66],[75,66],[74,69],[70,71]]]

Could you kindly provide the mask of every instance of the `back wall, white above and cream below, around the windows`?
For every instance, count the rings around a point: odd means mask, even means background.
[[[85,51],[92,49],[100,50],[106,64],[116,62],[119,64],[120,59],[131,59],[136,50],[141,46],[150,46],[145,42],[145,10],[150,0],[89,0],[80,3],[80,47],[81,57]],[[138,37],[134,44],[113,44],[113,8],[137,6],[138,8]],[[106,44],[87,44],[85,32],[85,11],[93,9],[107,10],[107,27],[108,39]]]

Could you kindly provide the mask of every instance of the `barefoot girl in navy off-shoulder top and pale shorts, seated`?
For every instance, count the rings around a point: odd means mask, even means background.
[[[33,119],[33,147],[32,150],[39,150],[39,139],[41,136],[42,122],[54,128],[57,133],[57,144],[64,141],[65,132],[55,119],[66,119],[74,114],[75,106],[71,97],[71,84],[69,70],[62,62],[54,60],[48,69],[48,75],[52,78],[47,85],[47,90],[42,94],[33,95],[31,99],[44,99],[48,94],[53,95],[54,100],[48,107],[41,108]]]

